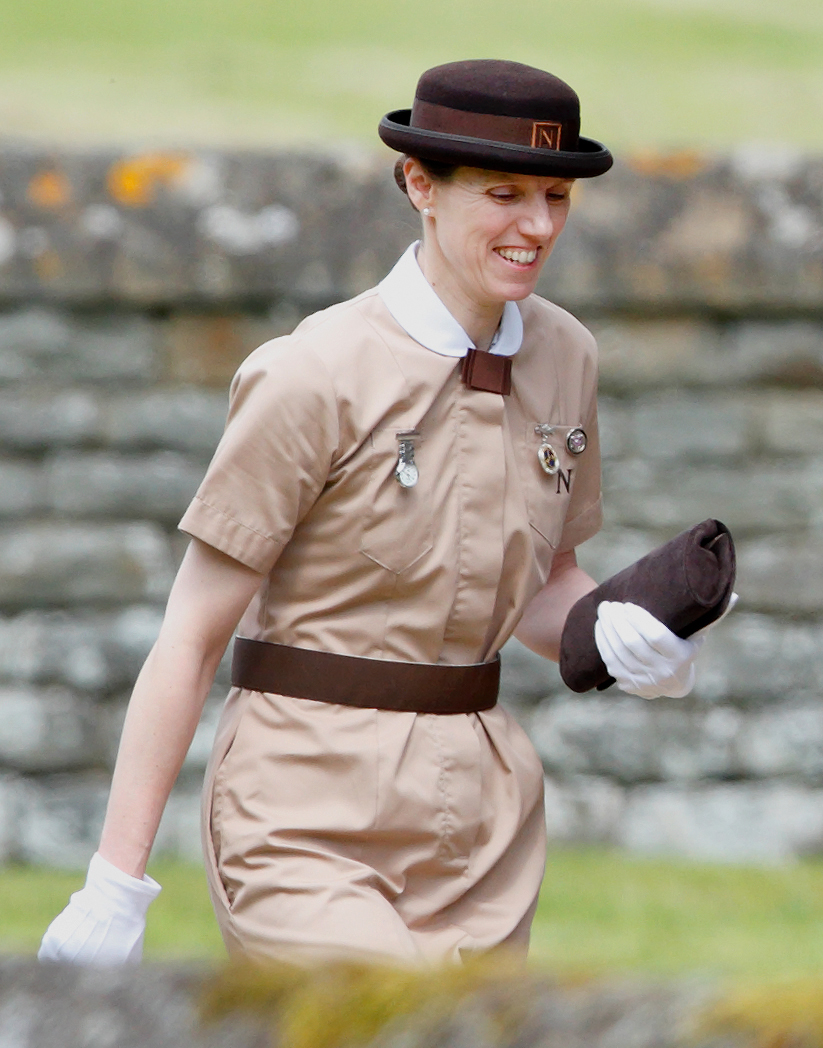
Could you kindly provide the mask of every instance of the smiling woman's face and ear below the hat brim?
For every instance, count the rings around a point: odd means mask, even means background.
[[[459,168],[448,181],[431,181],[408,163],[423,175],[407,174],[409,196],[430,211],[427,277],[481,308],[529,296],[565,225],[572,180]]]

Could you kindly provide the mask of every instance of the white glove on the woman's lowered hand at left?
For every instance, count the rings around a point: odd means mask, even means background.
[[[160,892],[151,877],[130,877],[95,852],[86,886],[51,921],[38,960],[74,964],[138,964],[146,911]]]

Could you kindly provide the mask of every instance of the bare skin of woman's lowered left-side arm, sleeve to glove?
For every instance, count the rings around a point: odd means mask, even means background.
[[[192,540],[134,685],[100,853],[142,877],[160,815],[232,633],[262,576]]]

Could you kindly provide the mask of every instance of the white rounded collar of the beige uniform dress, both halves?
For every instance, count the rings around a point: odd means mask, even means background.
[[[427,349],[442,356],[465,356],[475,344],[446,308],[417,263],[415,240],[394,268],[377,284],[377,293],[394,320]],[[523,320],[516,302],[503,305],[503,315],[491,346],[499,356],[514,356],[523,342]]]

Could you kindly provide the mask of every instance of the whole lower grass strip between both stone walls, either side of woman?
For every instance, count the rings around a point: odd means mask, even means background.
[[[149,958],[224,957],[202,871],[158,863]],[[0,951],[30,954],[82,874],[0,870]],[[823,861],[779,868],[549,855],[532,956],[556,971],[699,971],[732,979],[823,975]]]

